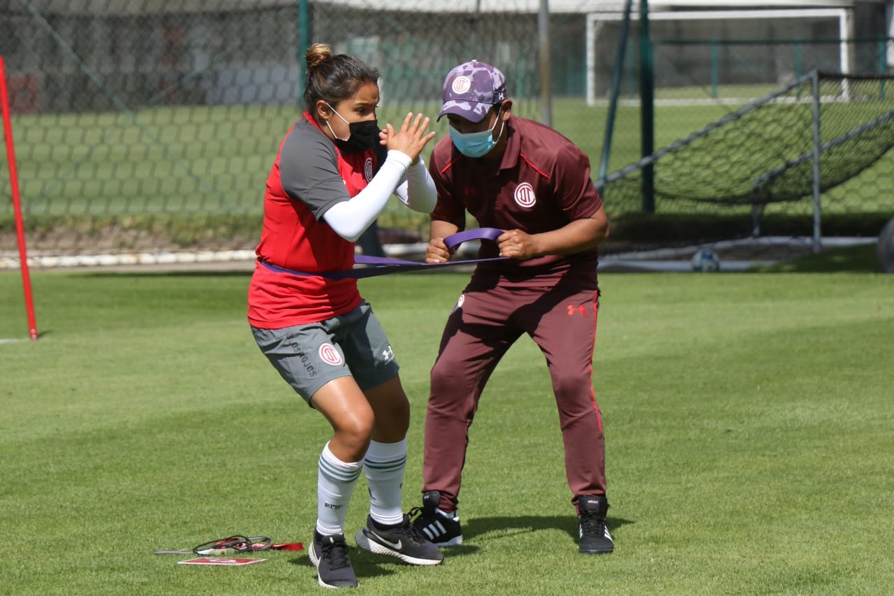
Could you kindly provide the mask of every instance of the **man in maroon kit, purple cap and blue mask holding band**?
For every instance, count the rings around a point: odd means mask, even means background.
[[[513,116],[505,78],[490,64],[472,60],[451,70],[443,116],[450,137],[437,143],[429,166],[437,205],[426,261],[451,259],[443,239],[465,227],[467,212],[478,226],[503,231],[479,258],[509,259],[477,265],[443,330],[426,413],[423,507],[414,524],[438,546],[462,542],[457,504],[468,427],[497,363],[527,334],[552,378],[578,551],[611,552],[603,423],[592,384],[596,246],[609,224],[589,159],[560,133]]]

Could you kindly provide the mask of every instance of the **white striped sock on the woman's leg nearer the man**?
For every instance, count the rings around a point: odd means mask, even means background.
[[[401,485],[407,467],[407,439],[397,443],[370,441],[363,469],[369,483],[369,515],[379,524],[400,524]]]

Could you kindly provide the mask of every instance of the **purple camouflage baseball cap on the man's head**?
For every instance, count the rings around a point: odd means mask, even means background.
[[[481,122],[494,104],[506,98],[506,77],[490,64],[471,60],[447,75],[441,98],[444,105],[438,120],[455,114],[469,122]]]

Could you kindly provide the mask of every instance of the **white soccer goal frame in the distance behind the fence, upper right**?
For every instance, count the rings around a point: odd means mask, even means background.
[[[632,13],[638,19],[638,12]],[[839,22],[839,70],[850,72],[850,47],[848,39],[853,38],[853,10],[849,8],[816,8],[816,9],[782,9],[782,10],[719,10],[719,11],[682,11],[682,12],[650,12],[649,21],[719,21],[743,19],[836,19]],[[606,22],[624,20],[624,13],[587,13],[586,14],[586,103],[595,106],[596,98],[596,41]]]

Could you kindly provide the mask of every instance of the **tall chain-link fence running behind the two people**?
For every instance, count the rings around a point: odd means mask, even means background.
[[[614,72],[620,28],[611,21],[595,39],[587,17],[593,4],[551,3],[549,88],[553,126],[596,164],[606,126],[604,81]],[[473,57],[506,73],[515,115],[540,119],[538,6],[534,0],[449,7],[421,0],[0,2],[0,55],[12,93],[31,252],[250,251],[266,175],[303,109],[303,54],[313,42],[381,70],[382,123],[409,109],[435,115],[444,74]],[[841,64],[843,46],[829,42],[838,37],[834,19],[772,25],[803,38],[784,43],[763,38],[766,22],[775,21],[724,26],[717,41],[693,37],[696,30],[679,22],[656,21],[656,147],[800,71]],[[635,25],[631,39],[636,33]],[[742,35],[763,40],[733,43]],[[852,68],[890,68],[878,58],[880,47],[890,52],[890,41],[846,46]],[[639,158],[637,52],[631,42],[622,66],[612,170]],[[588,102],[591,87],[596,101]],[[436,130],[444,134],[446,123]],[[0,196],[8,188],[8,172],[0,169]],[[863,208],[880,209],[857,209]],[[607,209],[614,215],[627,207],[608,201]],[[427,231],[427,219],[407,209],[386,210],[379,223],[409,237]],[[0,200],[0,252],[15,253],[15,244],[9,201]]]

